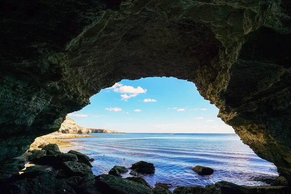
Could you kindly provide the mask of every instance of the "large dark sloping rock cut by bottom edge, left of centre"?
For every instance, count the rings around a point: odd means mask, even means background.
[[[102,194],[153,194],[147,186],[113,175],[99,175],[96,186]]]

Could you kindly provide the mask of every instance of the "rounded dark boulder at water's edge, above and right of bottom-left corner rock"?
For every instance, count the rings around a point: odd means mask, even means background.
[[[67,177],[93,175],[92,169],[80,162],[64,162],[61,170]]]

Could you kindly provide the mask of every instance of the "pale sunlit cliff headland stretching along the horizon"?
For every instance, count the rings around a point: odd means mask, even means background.
[[[87,133],[122,133],[122,132],[110,129],[87,129],[85,127],[80,127],[73,119],[66,117],[65,121],[61,125],[61,128],[58,130],[58,133],[87,134]]]

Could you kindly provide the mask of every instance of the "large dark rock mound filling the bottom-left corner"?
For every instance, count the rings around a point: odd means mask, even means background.
[[[75,194],[64,180],[49,173],[33,171],[0,182],[1,194]]]

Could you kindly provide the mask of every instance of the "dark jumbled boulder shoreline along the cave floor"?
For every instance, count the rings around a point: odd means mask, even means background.
[[[41,150],[34,149],[20,157],[1,162],[0,193],[172,194],[169,190],[171,184],[156,183],[155,188],[152,188],[141,177],[155,173],[152,163],[140,161],[130,168],[114,166],[108,175],[95,176],[91,169],[92,161],[94,159],[74,150],[62,153],[56,144],[49,144]],[[122,174],[129,170],[130,175],[134,176],[122,178]],[[177,187],[173,194],[289,194],[291,188],[286,181],[279,177],[274,183],[277,186],[257,187],[220,181],[206,187]]]

